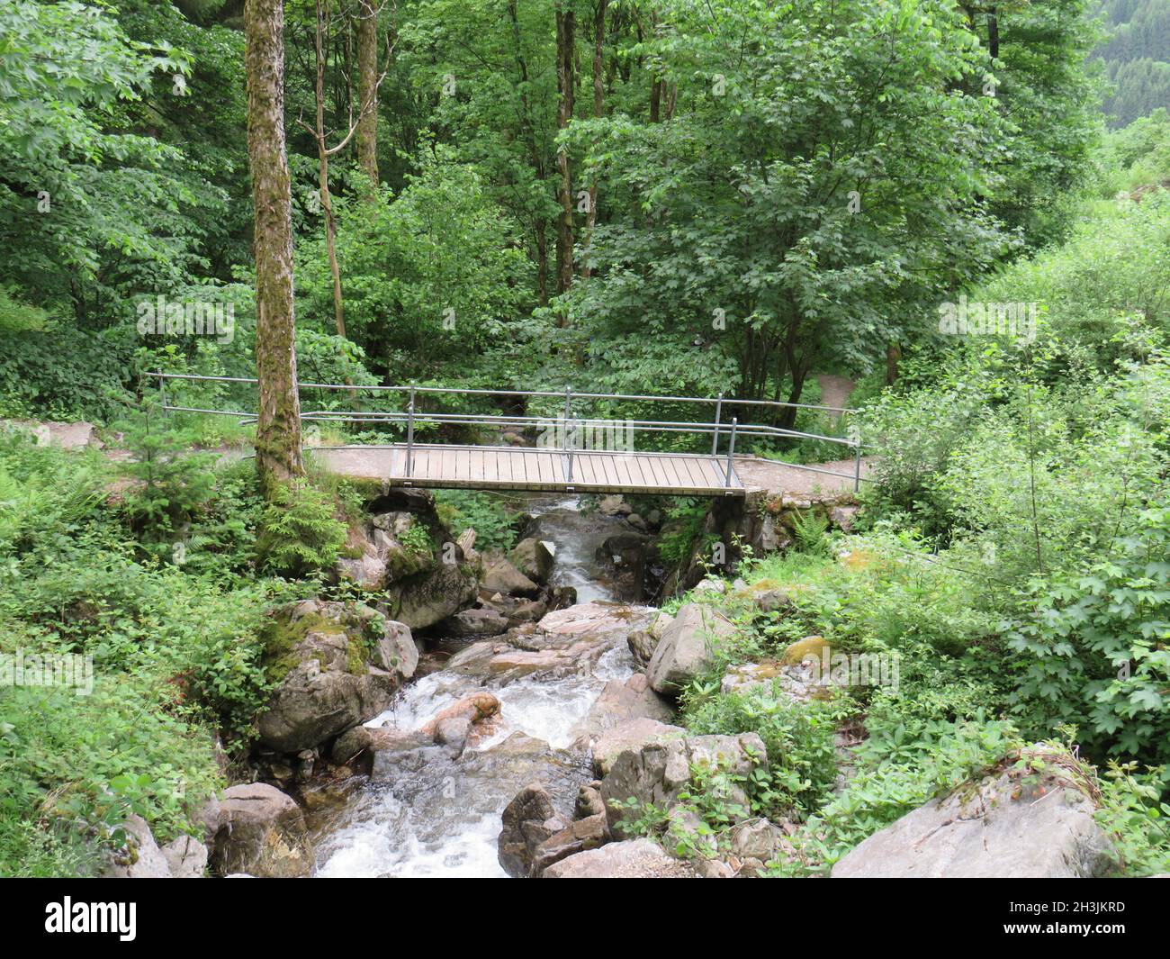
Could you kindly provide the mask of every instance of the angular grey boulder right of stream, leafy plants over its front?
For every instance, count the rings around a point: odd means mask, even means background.
[[[625,810],[614,808],[614,802],[636,799],[668,809],[690,782],[693,766],[717,767],[732,776],[745,778],[757,765],[765,762],[764,742],[756,733],[665,739],[626,749],[601,780],[601,799],[605,800],[610,827],[614,828],[625,816]],[[738,786],[732,788],[729,799],[748,804],[748,797]]]

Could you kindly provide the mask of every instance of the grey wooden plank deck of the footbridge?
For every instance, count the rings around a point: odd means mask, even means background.
[[[744,495],[727,457],[691,453],[618,453],[525,446],[432,446],[415,444],[407,475],[406,446],[332,446],[312,451],[328,471],[392,486],[442,489],[534,489],[587,493]]]

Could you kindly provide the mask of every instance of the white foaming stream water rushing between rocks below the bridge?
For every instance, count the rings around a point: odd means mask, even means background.
[[[594,554],[621,520],[580,513],[576,500],[529,504],[528,535],[555,544],[552,583],[577,589],[579,603],[612,598]],[[534,778],[563,774],[569,788],[589,779],[579,756],[548,752],[517,732],[564,749],[574,726],[608,679],[624,679],[634,660],[620,643],[584,674],[528,676],[491,692],[501,703],[490,740],[468,746],[459,759],[426,751],[370,782],[344,807],[315,823],[317,876],[504,876],[496,858],[500,814]],[[481,680],[440,670],[408,685],[369,726],[415,729],[445,706],[482,689]],[[511,738],[510,738],[511,737]],[[510,738],[510,739],[509,739]]]

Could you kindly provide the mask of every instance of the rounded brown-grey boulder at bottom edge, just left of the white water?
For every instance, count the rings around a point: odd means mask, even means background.
[[[301,807],[274,786],[232,786],[219,800],[212,865],[220,875],[264,878],[308,876],[312,845]]]

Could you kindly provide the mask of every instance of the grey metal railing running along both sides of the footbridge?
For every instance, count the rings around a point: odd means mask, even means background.
[[[176,412],[191,412],[191,413],[211,413],[216,416],[232,416],[238,417],[241,423],[255,423],[257,415],[246,410],[214,410],[199,406],[179,406],[170,405],[166,402],[166,382],[167,381],[193,381],[193,382],[209,382],[209,383],[236,383],[236,384],[252,384],[259,383],[252,377],[240,377],[240,376],[199,376],[195,374],[167,374],[152,371],[145,374],[146,377],[153,377],[159,383],[159,390],[161,392],[161,407],[164,410],[176,411]],[[378,423],[378,424],[405,424],[406,427],[406,478],[410,479],[413,473],[414,465],[414,450],[419,445],[415,443],[415,427],[417,425],[447,425],[447,426],[489,426],[497,430],[516,429],[516,430],[529,430],[536,427],[537,430],[548,430],[550,426],[557,426],[560,429],[564,437],[562,444],[562,452],[566,457],[566,475],[569,482],[572,482],[573,477],[573,458],[580,452],[592,452],[585,450],[578,450],[577,438],[580,436],[584,429],[591,425],[613,425],[620,423],[621,426],[632,432],[644,432],[644,433],[691,433],[691,434],[710,434],[711,437],[711,457],[720,455],[720,440],[721,438],[727,438],[727,453],[725,453],[725,471],[724,471],[724,485],[730,488],[731,480],[735,475],[734,471],[734,457],[736,439],[741,440],[744,437],[759,437],[759,438],[789,438],[789,439],[811,439],[821,440],[825,443],[839,444],[853,450],[854,457],[854,470],[853,473],[838,473],[832,470],[823,470],[817,466],[808,466],[806,464],[799,463],[786,463],[784,460],[770,460],[772,463],[778,463],[784,466],[790,466],[796,470],[807,470],[813,473],[821,473],[831,477],[839,477],[841,479],[852,479],[853,489],[856,492],[861,486],[861,441],[859,439],[845,438],[845,437],[831,437],[823,436],[820,433],[807,433],[799,430],[790,430],[783,426],[772,426],[769,424],[760,423],[741,423],[739,418],[731,417],[730,423],[723,420],[723,413],[725,406],[745,406],[745,407],[763,407],[768,410],[780,410],[780,409],[799,409],[799,410],[820,410],[825,412],[837,413],[839,416],[856,412],[849,407],[845,406],[823,406],[808,403],[783,403],[779,400],[769,399],[736,399],[728,398],[723,393],[717,397],[695,397],[695,396],[649,396],[649,395],[635,395],[635,393],[594,393],[594,392],[574,392],[572,388],[566,388],[563,392],[548,391],[548,390],[482,390],[482,389],[469,389],[460,386],[419,386],[415,384],[410,384],[405,386],[383,386],[383,385],[370,385],[370,386],[357,386],[339,383],[297,383],[298,392],[302,390],[338,390],[345,391],[351,396],[358,392],[372,392],[372,393],[398,393],[405,395],[406,406],[402,410],[388,410],[388,411],[377,411],[377,410],[302,410],[301,419],[308,422],[317,423]],[[564,398],[564,410],[558,417],[550,416],[518,416],[518,415],[489,415],[489,413],[467,413],[467,412],[442,412],[442,411],[420,411],[418,410],[418,398],[420,395],[453,395],[453,396],[476,396],[476,397],[529,397],[529,398],[541,398],[541,399],[560,399]],[[573,411],[573,402],[586,402],[586,400],[606,400],[615,403],[690,403],[690,404],[703,404],[714,406],[714,416],[709,422],[683,422],[683,420],[656,420],[656,419],[606,419],[596,417],[578,417]],[[362,444],[363,446],[369,446],[370,448],[384,448],[379,444]],[[392,444],[393,445],[393,444]],[[484,444],[487,445],[487,444]],[[326,447],[330,448],[330,447]],[[512,448],[508,447],[496,447],[496,448]],[[617,452],[617,451],[606,451]],[[693,454],[677,454],[677,453],[658,453],[658,455],[693,455]]]

